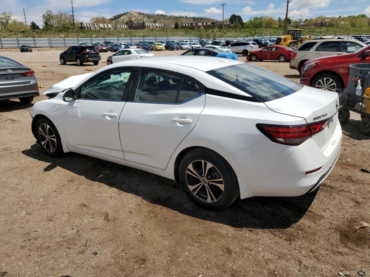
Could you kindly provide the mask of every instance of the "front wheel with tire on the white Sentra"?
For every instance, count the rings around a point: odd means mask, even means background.
[[[36,123],[37,142],[50,157],[60,157],[63,148],[55,125],[46,117],[41,117]]]

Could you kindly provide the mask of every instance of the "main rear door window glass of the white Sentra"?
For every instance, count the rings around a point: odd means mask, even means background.
[[[151,103],[176,103],[181,76],[144,70],[139,77],[134,101]]]

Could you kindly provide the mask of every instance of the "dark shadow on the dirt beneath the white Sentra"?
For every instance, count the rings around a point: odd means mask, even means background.
[[[55,167],[61,167],[90,181],[100,182],[123,192],[135,194],[153,204],[236,228],[289,228],[305,215],[317,193],[316,190],[298,197],[238,199],[226,210],[212,212],[194,205],[175,181],[155,174],[77,153],[67,153],[63,157],[52,158],[46,155],[38,144],[32,145],[30,149],[22,153],[36,160],[50,163],[44,171],[50,172]],[[123,203],[119,205],[124,206]]]

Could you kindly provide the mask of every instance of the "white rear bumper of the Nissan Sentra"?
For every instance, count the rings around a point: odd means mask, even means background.
[[[265,140],[225,159],[250,191],[250,195],[241,195],[241,198],[299,196],[319,187],[330,174],[339,156],[341,142],[342,129],[337,121],[330,143],[323,151],[312,138],[299,146]],[[320,167],[319,171],[306,175],[307,171]]]

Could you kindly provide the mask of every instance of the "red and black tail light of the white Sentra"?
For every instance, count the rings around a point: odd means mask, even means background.
[[[307,138],[324,130],[330,119],[303,125],[256,124],[266,137],[276,143],[299,145]]]

